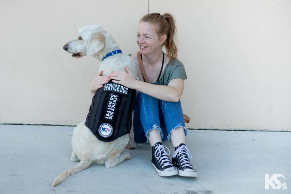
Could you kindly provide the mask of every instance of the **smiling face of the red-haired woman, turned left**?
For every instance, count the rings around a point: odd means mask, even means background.
[[[136,43],[139,45],[141,54],[149,54],[162,50],[164,41],[160,41],[153,24],[140,22],[137,29]]]

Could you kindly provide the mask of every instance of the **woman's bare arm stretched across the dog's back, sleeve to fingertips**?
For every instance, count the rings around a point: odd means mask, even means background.
[[[132,73],[125,67],[127,72],[114,71],[109,76],[114,83],[119,83],[128,88],[132,88],[143,92],[147,95],[155,97],[157,99],[178,102],[183,90],[184,90],[184,80],[177,78],[172,79],[168,86],[155,85],[151,83],[146,83],[143,81],[138,81],[134,79]]]

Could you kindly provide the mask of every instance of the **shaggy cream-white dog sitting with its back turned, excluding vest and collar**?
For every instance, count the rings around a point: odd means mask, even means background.
[[[125,71],[127,66],[137,78],[137,64],[130,56],[120,53],[102,60],[107,53],[118,50],[119,47],[113,37],[100,25],[79,29],[77,37],[68,42],[63,49],[74,58],[88,55],[99,59],[101,62],[98,72],[103,70],[102,75],[109,75],[113,70]],[[103,142],[98,140],[84,123],[85,120],[78,124],[72,135],[71,161],[79,163],[56,177],[52,186],[58,185],[68,176],[84,170],[92,163],[105,164],[106,168],[112,168],[130,158],[129,153],[123,151],[125,147],[129,149],[137,147],[133,140],[133,124],[129,135],[126,134],[111,142]]]

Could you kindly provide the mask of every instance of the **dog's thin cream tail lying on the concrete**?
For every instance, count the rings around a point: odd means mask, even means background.
[[[81,170],[88,168],[91,165],[91,163],[92,163],[91,158],[89,158],[89,157],[82,158],[82,160],[77,165],[75,165],[73,168],[70,168],[69,170],[58,175],[58,177],[56,177],[54,179],[53,186],[60,184],[65,179],[67,179],[70,175],[73,175],[76,172],[80,172]]]

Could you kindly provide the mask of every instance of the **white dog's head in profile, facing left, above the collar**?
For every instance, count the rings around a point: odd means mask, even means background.
[[[74,58],[93,56],[104,48],[105,36],[101,25],[86,26],[78,30],[77,37],[63,46]]]

